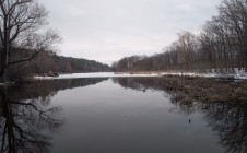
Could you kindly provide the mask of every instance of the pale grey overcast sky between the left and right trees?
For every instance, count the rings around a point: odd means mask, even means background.
[[[181,31],[198,33],[221,0],[40,0],[63,38],[60,55],[111,64],[153,55]]]

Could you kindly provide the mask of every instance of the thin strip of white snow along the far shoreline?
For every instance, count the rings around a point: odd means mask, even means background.
[[[98,73],[72,73],[60,74],[59,76],[35,76],[37,80],[50,79],[80,79],[80,78],[128,78],[128,76],[162,76],[162,75],[187,75],[187,76],[202,76],[202,78],[231,78],[231,79],[246,79],[247,73],[244,70],[235,70],[235,73],[193,73],[193,72],[142,72],[142,73],[114,73],[114,72],[98,72]]]

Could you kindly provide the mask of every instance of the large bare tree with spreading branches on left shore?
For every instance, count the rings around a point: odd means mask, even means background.
[[[37,0],[0,0],[0,76],[8,79],[11,64],[50,51],[61,38],[47,25],[47,11]]]

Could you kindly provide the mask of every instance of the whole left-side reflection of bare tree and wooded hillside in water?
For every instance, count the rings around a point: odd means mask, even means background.
[[[38,81],[0,89],[0,152],[49,152],[50,132],[64,123],[61,107],[51,105],[60,90],[96,84],[106,79]]]

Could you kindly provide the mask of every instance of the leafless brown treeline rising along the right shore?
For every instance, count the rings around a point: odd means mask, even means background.
[[[178,39],[151,57],[125,57],[113,63],[116,71],[247,71],[247,1],[223,0],[217,15],[200,34],[181,32]]]

